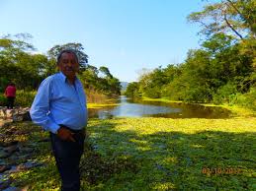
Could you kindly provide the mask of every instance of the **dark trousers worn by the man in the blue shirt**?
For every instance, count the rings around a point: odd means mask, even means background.
[[[53,155],[61,177],[62,191],[79,191],[79,163],[84,150],[84,131],[73,131],[76,142],[62,141],[50,133]]]

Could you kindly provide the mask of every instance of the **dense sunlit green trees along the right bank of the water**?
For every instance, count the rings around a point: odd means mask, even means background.
[[[143,74],[136,87],[143,96],[152,98],[169,97],[187,102],[231,101],[226,98],[228,94],[247,93],[255,82],[253,57],[240,53],[239,48],[231,36],[214,34],[201,49],[190,50],[185,63],[159,67]],[[228,92],[229,89],[223,88],[228,87],[228,83],[235,91]],[[132,90],[128,91],[132,95]]]

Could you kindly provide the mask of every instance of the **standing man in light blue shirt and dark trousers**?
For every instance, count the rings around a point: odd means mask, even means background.
[[[43,80],[30,113],[32,120],[50,132],[53,155],[61,176],[61,190],[80,188],[79,162],[87,125],[86,96],[76,77],[78,57],[63,50],[57,57],[59,73]]]

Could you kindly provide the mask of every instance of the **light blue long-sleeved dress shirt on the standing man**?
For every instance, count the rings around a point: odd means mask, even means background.
[[[56,133],[59,124],[79,130],[87,125],[86,96],[82,83],[74,85],[59,72],[43,80],[31,110],[32,120],[43,129]]]

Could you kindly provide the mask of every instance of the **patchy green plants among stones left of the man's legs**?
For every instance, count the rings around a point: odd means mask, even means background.
[[[18,132],[18,134],[8,134],[10,129]],[[30,159],[16,159],[16,163],[26,161],[43,163],[43,166],[11,173],[11,178],[15,180],[12,185],[17,187],[28,186],[29,190],[58,190],[60,177],[50,153],[50,144],[45,141],[48,139],[48,132],[43,132],[41,127],[32,122],[18,122],[5,125],[2,133],[5,135],[6,142],[18,141],[23,148],[32,149]]]

